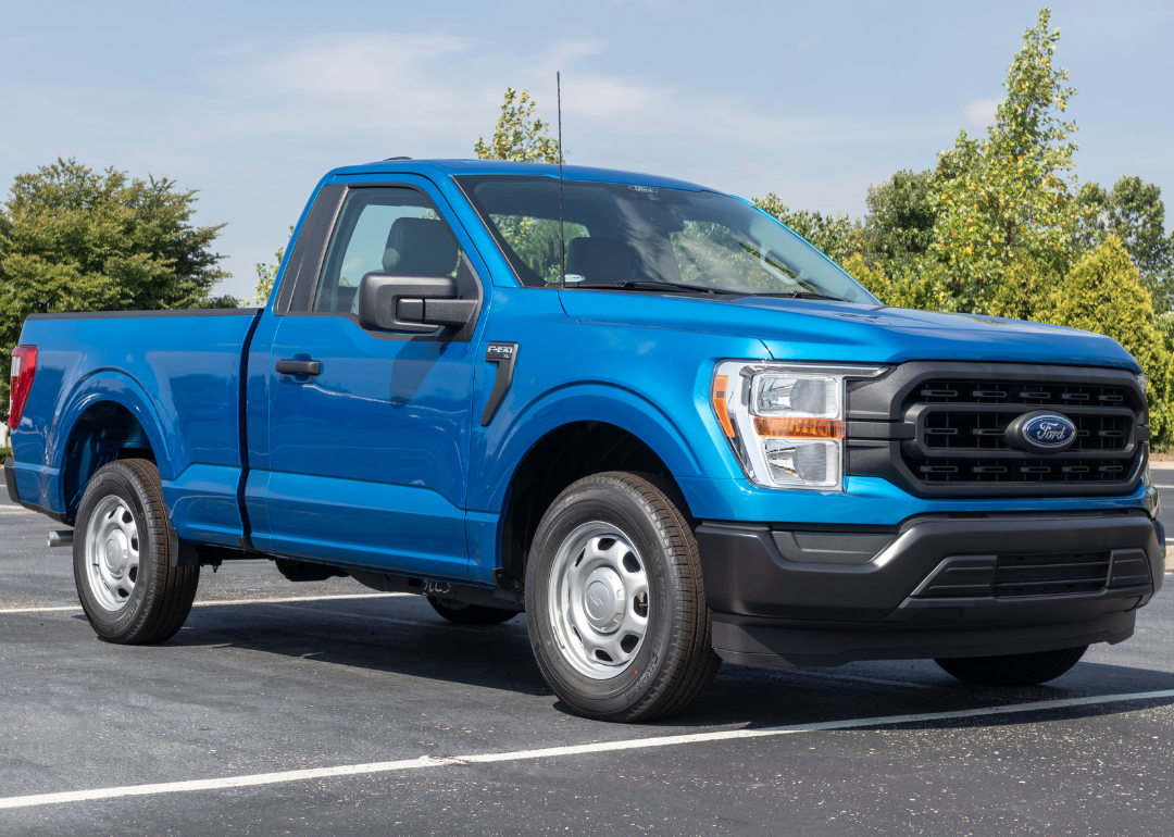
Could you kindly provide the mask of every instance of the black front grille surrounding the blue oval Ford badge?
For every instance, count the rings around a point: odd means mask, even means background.
[[[846,473],[882,475],[915,493],[1125,493],[1147,455],[1145,396],[1125,370],[910,363],[849,390],[850,419],[882,410],[888,436],[879,423],[851,425]],[[1008,438],[1008,425],[1035,411],[1068,418],[1073,444],[1041,454]]]

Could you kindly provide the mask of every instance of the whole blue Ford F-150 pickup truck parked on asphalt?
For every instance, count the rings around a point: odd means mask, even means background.
[[[263,310],[45,313],[13,500],[112,642],[272,559],[492,625],[574,710],[722,660],[1054,679],[1161,587],[1146,380],[1106,337],[888,308],[753,204],[623,171],[340,168]]]

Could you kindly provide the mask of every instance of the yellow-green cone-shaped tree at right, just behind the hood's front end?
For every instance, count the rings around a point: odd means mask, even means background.
[[[1149,378],[1149,432],[1165,450],[1174,441],[1170,352],[1141,275],[1116,236],[1073,268],[1046,305],[1037,312],[1044,323],[1107,335],[1138,359]]]

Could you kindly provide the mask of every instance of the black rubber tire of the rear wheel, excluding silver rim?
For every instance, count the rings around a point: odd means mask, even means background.
[[[90,529],[100,533],[103,513],[117,498],[133,515],[139,565],[133,589],[117,608],[102,605],[103,594],[87,561]],[[96,513],[96,514],[95,514]],[[158,470],[148,459],[122,459],[103,465],[82,494],[74,529],[74,581],[90,626],[108,642],[149,644],[169,640],[183,627],[200,583],[200,567],[173,567],[170,527]],[[95,562],[93,565],[97,567]],[[95,569],[94,573],[97,571]],[[113,595],[110,595],[114,599]]]

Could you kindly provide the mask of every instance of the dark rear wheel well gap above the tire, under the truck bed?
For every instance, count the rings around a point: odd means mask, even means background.
[[[62,490],[66,517],[73,520],[94,472],[115,459],[155,459],[139,420],[121,404],[99,401],[77,417],[66,445]]]

